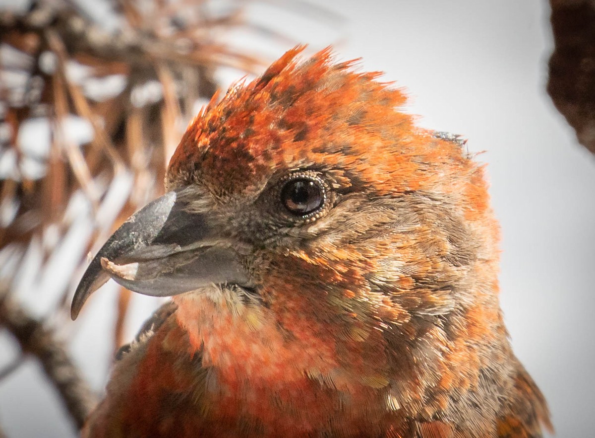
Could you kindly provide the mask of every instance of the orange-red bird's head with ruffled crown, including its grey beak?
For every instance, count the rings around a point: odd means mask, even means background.
[[[179,303],[226,292],[237,318],[258,307],[286,339],[328,338],[343,361],[382,369],[430,361],[424,342],[459,354],[463,331],[468,344],[505,336],[483,168],[458,138],[415,126],[378,73],[302,49],[190,123],[167,193],[101,248],[73,317],[111,277]]]

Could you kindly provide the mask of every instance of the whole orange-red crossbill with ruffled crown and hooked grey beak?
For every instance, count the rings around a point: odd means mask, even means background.
[[[483,166],[378,73],[300,51],[203,108],[84,274],[73,317],[110,277],[173,296],[84,434],[541,437]]]

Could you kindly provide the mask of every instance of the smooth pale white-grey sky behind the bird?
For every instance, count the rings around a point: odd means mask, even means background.
[[[303,4],[298,4],[302,5]],[[437,131],[468,138],[488,163],[491,197],[502,225],[501,302],[516,354],[550,404],[557,436],[595,430],[595,157],[544,91],[552,46],[547,2],[538,0],[325,1],[345,21],[300,18],[255,4],[250,16],[315,48],[336,45],[342,60],[383,70],[408,89],[411,113]],[[237,35],[237,44],[288,45]],[[242,40],[243,39],[243,40]],[[227,82],[237,72],[221,72]],[[113,291],[100,291],[79,323],[73,353],[93,384],[105,382]],[[134,297],[130,333],[153,303]],[[0,338],[0,349],[10,347]],[[0,424],[10,437],[74,436],[52,389],[27,363],[0,383]]]

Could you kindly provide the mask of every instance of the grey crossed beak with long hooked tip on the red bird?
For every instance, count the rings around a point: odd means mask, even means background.
[[[98,251],[73,297],[76,319],[89,296],[109,278],[131,291],[174,296],[207,284],[249,284],[239,244],[224,244],[220,223],[207,213],[189,212],[177,191],[134,213]]]

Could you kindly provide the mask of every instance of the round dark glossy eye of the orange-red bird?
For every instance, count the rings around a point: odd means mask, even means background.
[[[292,215],[309,215],[324,204],[324,188],[317,179],[293,178],[281,188],[281,202]]]

